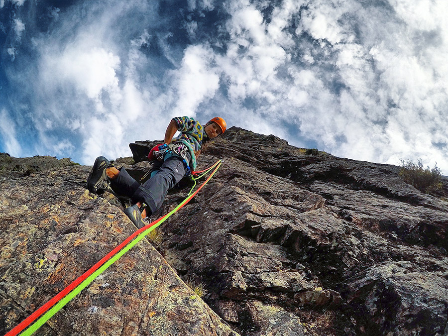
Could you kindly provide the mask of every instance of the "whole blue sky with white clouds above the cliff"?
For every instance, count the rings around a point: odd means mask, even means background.
[[[448,173],[448,1],[0,0],[0,151],[92,164],[173,116]]]

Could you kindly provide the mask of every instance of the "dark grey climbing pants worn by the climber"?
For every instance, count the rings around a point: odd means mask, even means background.
[[[178,156],[171,156],[163,163],[155,161],[151,178],[141,185],[126,169],[121,168],[119,171],[118,176],[111,180],[112,190],[118,195],[129,197],[134,203],[144,202],[147,205],[147,216],[162,206],[168,191],[186,174],[184,162]]]

